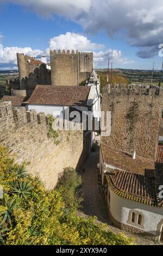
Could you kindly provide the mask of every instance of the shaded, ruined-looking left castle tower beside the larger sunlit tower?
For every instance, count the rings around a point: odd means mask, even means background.
[[[33,92],[37,84],[51,84],[51,71],[47,69],[46,63],[23,53],[17,53],[17,63],[20,89],[27,90],[27,95]]]

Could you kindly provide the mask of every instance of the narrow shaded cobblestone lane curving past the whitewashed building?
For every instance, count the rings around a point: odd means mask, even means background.
[[[97,216],[98,221],[108,224],[108,228],[113,232],[124,233],[128,237],[134,238],[138,245],[156,245],[157,243],[154,243],[153,241],[122,231],[112,225],[109,219],[104,192],[101,186],[101,177],[99,170],[97,169],[98,162],[99,149],[96,150],[96,152],[91,152],[89,159],[85,162],[85,171],[83,172],[83,170],[81,170],[80,172],[80,175],[82,175],[83,194],[85,198],[83,208],[81,209],[84,214],[83,216]]]

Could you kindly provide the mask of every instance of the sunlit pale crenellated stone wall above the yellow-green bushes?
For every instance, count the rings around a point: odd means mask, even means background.
[[[48,118],[44,113],[12,108],[0,103],[0,143],[9,148],[16,161],[30,161],[28,171],[39,174],[48,189],[57,184],[65,167],[79,169],[89,154],[88,135],[83,131],[59,131],[59,144],[48,139]]]

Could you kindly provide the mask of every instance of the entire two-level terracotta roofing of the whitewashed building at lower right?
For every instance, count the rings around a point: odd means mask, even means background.
[[[163,207],[163,199],[159,197],[159,187],[163,185],[163,163],[139,156],[133,160],[129,154],[105,144],[101,145],[101,151],[104,163],[110,164],[105,176],[112,191],[135,202]],[[114,167],[113,173],[110,172],[111,166]]]

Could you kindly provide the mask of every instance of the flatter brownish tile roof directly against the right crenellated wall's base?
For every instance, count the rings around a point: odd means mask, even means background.
[[[108,163],[115,168],[120,168],[135,174],[154,174],[154,161],[143,159],[142,157],[133,157],[123,151],[111,148],[106,144],[101,145],[104,163]]]

